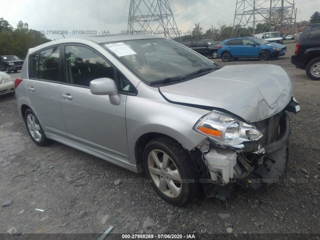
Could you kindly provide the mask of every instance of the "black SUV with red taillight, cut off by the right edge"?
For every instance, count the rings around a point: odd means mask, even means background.
[[[320,22],[305,26],[295,45],[291,63],[305,69],[313,80],[320,80]]]

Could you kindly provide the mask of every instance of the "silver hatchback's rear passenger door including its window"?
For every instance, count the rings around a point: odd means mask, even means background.
[[[29,56],[27,97],[45,133],[65,136],[59,102],[61,46],[50,46]]]

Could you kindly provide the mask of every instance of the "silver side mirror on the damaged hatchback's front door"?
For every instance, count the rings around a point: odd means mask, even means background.
[[[90,91],[93,95],[109,95],[111,104],[120,103],[120,95],[114,80],[107,77],[97,78],[90,81]]]

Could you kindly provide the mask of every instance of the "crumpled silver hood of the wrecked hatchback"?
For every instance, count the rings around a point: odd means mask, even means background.
[[[277,65],[229,65],[159,90],[170,101],[218,107],[255,122],[287,105],[292,83]]]

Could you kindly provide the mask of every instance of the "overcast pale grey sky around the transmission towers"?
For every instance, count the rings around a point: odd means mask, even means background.
[[[277,1],[280,6],[281,1]],[[314,11],[320,11],[314,8],[319,6],[319,0],[295,0],[294,3],[297,21],[308,20]],[[169,0],[169,4],[177,27],[184,35],[198,22],[204,31],[211,24],[213,27],[218,27],[219,23],[233,24],[236,0]],[[0,17],[13,27],[22,20],[35,30],[67,30],[66,37],[71,37],[73,30],[113,34],[127,29],[129,5],[130,0],[1,0]],[[62,37],[46,36],[49,39]]]

